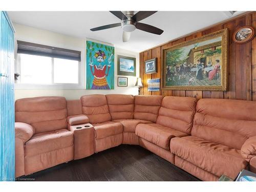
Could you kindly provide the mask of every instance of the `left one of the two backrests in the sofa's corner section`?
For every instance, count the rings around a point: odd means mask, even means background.
[[[134,96],[122,94],[105,95],[112,120],[133,119]]]

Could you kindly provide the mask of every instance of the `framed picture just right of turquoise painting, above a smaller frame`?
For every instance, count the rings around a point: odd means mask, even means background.
[[[118,55],[117,75],[136,76],[136,58]]]

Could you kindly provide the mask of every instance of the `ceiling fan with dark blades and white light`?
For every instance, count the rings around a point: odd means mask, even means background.
[[[110,12],[114,14],[116,17],[118,17],[119,19],[121,19],[121,23],[96,27],[91,29],[91,31],[99,31],[103,29],[110,29],[110,28],[121,26],[123,30],[123,42],[129,41],[131,32],[133,32],[135,29],[146,31],[148,33],[154,33],[157,35],[161,35],[163,33],[163,30],[157,27],[139,23],[140,20],[153,15],[157,11],[139,11],[136,14],[134,14],[134,11],[126,11],[125,14],[122,11],[110,11]]]

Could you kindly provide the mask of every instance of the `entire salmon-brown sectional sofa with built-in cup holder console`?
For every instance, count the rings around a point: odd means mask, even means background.
[[[147,148],[205,181],[256,173],[255,109],[253,101],[173,96],[18,99],[16,177],[120,144]]]

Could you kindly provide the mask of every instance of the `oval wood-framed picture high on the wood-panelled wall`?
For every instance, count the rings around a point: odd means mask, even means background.
[[[255,35],[255,31],[250,26],[244,26],[239,28],[236,32],[233,34],[233,41],[236,44],[245,44],[246,42],[249,42]]]

